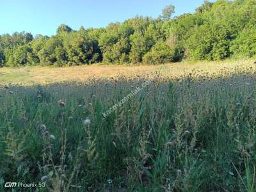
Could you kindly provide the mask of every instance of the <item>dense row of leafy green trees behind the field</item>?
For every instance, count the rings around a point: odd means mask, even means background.
[[[135,17],[106,28],[74,31],[65,24],[51,37],[0,36],[0,66],[168,63],[256,55],[256,1],[205,1],[193,14],[172,19]]]

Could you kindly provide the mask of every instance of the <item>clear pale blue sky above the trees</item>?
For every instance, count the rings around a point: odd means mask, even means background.
[[[213,1],[213,0],[212,0]],[[1,0],[0,34],[15,31],[54,35],[65,23],[72,29],[99,28],[136,15],[157,17],[168,4],[175,15],[193,13],[204,0]]]

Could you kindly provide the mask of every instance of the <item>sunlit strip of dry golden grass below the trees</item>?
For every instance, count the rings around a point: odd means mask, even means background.
[[[220,71],[228,70],[228,74],[237,70],[256,71],[253,60],[239,61],[200,61],[196,63],[171,63],[165,65],[90,65],[76,67],[20,67],[0,68],[0,84],[49,84],[61,81],[86,81],[90,78],[145,76],[161,72],[164,76],[179,78],[186,74],[193,76],[216,76]]]

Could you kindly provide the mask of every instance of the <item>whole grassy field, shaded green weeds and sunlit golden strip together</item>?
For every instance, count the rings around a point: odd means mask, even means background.
[[[253,192],[255,74],[253,60],[0,68],[0,191]]]

